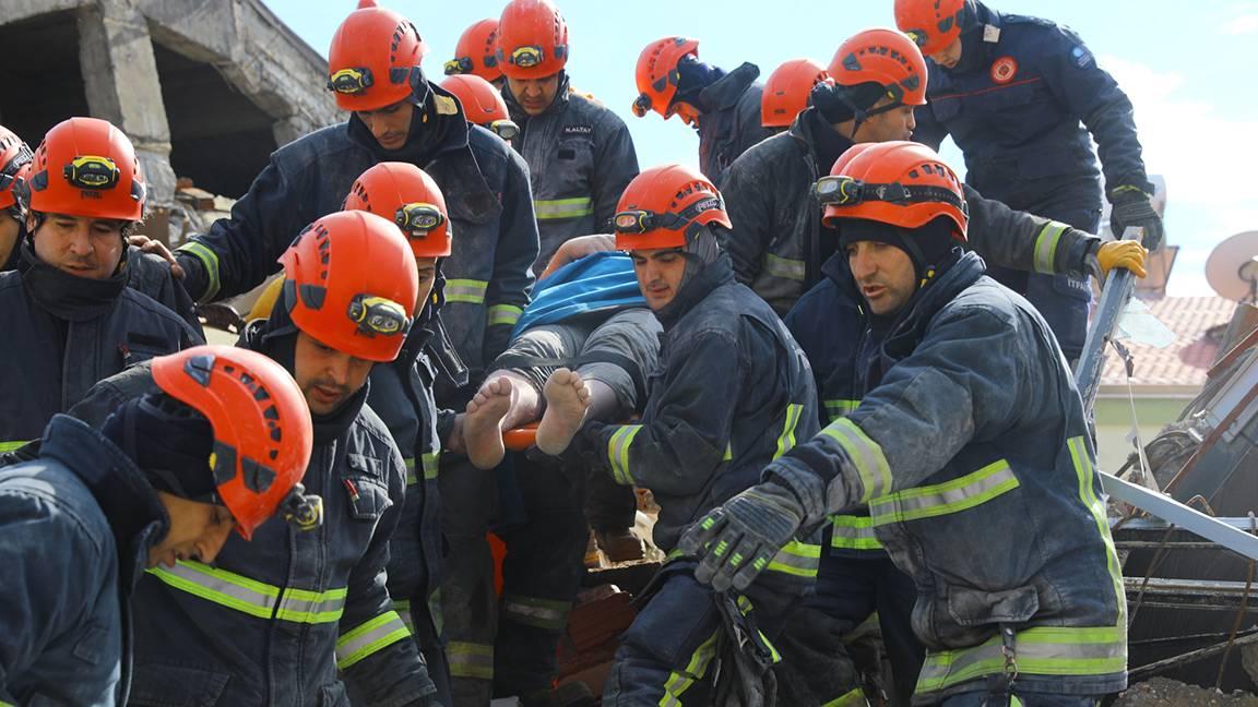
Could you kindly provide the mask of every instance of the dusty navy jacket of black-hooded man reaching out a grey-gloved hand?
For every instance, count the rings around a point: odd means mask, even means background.
[[[1116,692],[1122,575],[1083,406],[1048,325],[982,273],[966,254],[920,292],[869,357],[860,405],[765,473],[810,522],[868,503],[917,585],[920,697],[1001,674],[1003,625],[1019,686]]]

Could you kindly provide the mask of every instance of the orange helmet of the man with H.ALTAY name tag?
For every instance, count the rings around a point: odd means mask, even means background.
[[[567,23],[550,0],[511,0],[498,19],[498,68],[508,78],[545,78],[567,64]]]

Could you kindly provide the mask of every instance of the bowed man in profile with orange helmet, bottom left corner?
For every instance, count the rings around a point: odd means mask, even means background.
[[[309,410],[279,365],[198,346],[152,370],[157,391],[99,431],[57,415],[34,460],[0,469],[5,704],[126,704],[145,567],[214,562],[233,528],[317,503],[298,483]]]

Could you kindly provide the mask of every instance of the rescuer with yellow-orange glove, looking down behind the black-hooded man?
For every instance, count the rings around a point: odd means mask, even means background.
[[[733,230],[723,244],[738,281],[779,315],[823,279],[838,235],[827,228],[809,187],[855,143],[908,140],[915,107],[926,101],[926,62],[912,40],[889,29],[848,38],[813,107],[790,130],[756,145],[730,167],[723,191]],[[921,114],[920,111],[916,114]],[[1047,218],[1011,211],[966,187],[974,228],[966,244],[988,262],[1038,273],[1099,272],[1112,247]]]

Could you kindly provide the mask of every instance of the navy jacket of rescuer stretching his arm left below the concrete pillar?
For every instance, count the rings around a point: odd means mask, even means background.
[[[528,169],[497,136],[468,127],[449,93],[431,91],[426,121],[413,123],[416,135],[394,155],[380,150],[357,117],[277,150],[231,218],[180,247],[189,293],[205,302],[257,286],[279,269],[276,259],[301,229],[341,209],[367,167],[413,156],[450,210],[455,245],[443,264],[447,330],[473,371],[492,361],[506,348],[533,283],[528,268],[537,258],[537,226]]]

